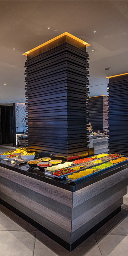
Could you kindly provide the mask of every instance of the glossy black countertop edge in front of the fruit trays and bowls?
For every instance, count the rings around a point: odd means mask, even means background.
[[[105,171],[102,170],[101,172],[95,173],[94,175],[89,177],[86,176],[84,179],[79,180],[77,182],[69,181],[69,180],[66,180],[65,178],[58,179],[58,178],[45,176],[44,172],[38,171],[34,168],[30,168],[27,164],[22,164],[19,166],[18,164],[11,164],[11,162],[9,161],[6,162],[3,159],[0,159],[0,166],[7,168],[9,170],[12,170],[14,172],[19,172],[23,175],[29,176],[36,180],[41,180],[43,182],[49,183],[53,186],[74,192],[81,188],[89,186],[99,180],[105,179],[106,177],[113,175],[116,172],[120,172],[128,168],[128,160],[125,162],[125,164],[123,162],[119,163],[114,167],[110,167],[110,169],[108,170],[105,170]]]

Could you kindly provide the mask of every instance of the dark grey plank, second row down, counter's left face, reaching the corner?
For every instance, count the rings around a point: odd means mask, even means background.
[[[46,208],[54,211],[55,213],[58,213],[65,218],[72,220],[72,208],[68,207],[67,205],[61,204],[51,198],[48,198],[46,196],[43,196],[42,194],[39,194],[29,188],[23,187],[13,181],[10,181],[10,188],[12,190],[17,191],[18,193],[22,194],[23,196],[26,196],[35,201],[38,204],[41,204],[45,206]]]

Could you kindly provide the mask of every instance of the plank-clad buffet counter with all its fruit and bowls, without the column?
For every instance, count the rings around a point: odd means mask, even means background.
[[[120,211],[128,185],[127,156],[65,160],[20,150],[1,154],[0,202],[69,251]]]

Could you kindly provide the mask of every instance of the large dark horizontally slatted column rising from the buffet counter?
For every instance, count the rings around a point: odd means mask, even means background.
[[[88,149],[89,67],[85,45],[64,37],[46,52],[28,54],[25,67],[28,147],[66,156]]]

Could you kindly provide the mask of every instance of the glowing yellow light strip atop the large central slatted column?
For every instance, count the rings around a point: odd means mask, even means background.
[[[39,46],[37,46],[37,47],[33,48],[32,50],[29,50],[28,52],[23,53],[22,55],[26,55],[26,56],[27,56],[27,54],[28,54],[28,53],[30,53],[30,52],[34,52],[35,50],[37,50],[37,49],[39,49],[39,48],[43,47],[43,46],[44,46],[44,45],[46,45],[46,44],[49,44],[49,43],[51,43],[51,42],[53,42],[53,41],[55,41],[55,40],[59,39],[59,38],[60,38],[60,37],[62,37],[62,36],[69,36],[69,37],[71,37],[71,38],[75,39],[76,41],[78,41],[78,42],[80,42],[80,43],[82,43],[82,44],[85,44],[85,45],[86,45],[86,47],[90,45],[90,44],[88,44],[88,43],[84,42],[83,40],[79,39],[78,37],[73,36],[73,35],[69,34],[68,32],[64,32],[63,34],[61,34],[61,35],[59,35],[59,36],[56,36],[56,37],[52,38],[51,40],[49,40],[49,41],[45,42],[44,44],[40,44]]]

